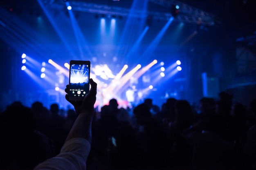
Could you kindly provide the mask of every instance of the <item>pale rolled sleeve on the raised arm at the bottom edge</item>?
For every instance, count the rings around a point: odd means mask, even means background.
[[[60,154],[40,163],[34,170],[86,170],[90,148],[86,139],[70,139],[65,142]]]

